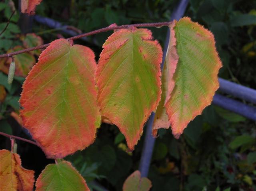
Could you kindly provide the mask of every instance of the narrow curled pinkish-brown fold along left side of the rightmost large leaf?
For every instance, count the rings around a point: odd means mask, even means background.
[[[164,107],[164,104],[167,100],[170,99],[172,89],[175,85],[175,82],[173,80],[173,74],[176,70],[177,63],[178,63],[178,54],[176,51],[176,38],[175,33],[173,30],[173,27],[176,25],[176,20],[170,25],[170,39],[169,39],[169,45],[167,49],[166,58],[164,61],[164,67],[162,70],[162,94],[161,94],[161,100],[158,104],[156,115],[154,118],[154,123],[152,127],[152,135],[156,137],[157,130],[159,128],[169,128],[170,127],[170,121],[168,118],[168,115],[166,114],[166,109]]]

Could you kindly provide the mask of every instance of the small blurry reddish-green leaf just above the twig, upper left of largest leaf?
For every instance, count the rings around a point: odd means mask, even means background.
[[[22,35],[20,37],[20,39],[22,40],[25,48],[40,46],[44,43],[42,38],[40,36],[36,35],[35,33],[28,33],[26,35]],[[41,50],[35,50],[32,53],[39,56],[41,53]]]

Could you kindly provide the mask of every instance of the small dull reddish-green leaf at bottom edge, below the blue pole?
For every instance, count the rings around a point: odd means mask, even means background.
[[[149,191],[151,187],[151,181],[146,177],[141,178],[140,171],[136,170],[124,181],[123,191]]]

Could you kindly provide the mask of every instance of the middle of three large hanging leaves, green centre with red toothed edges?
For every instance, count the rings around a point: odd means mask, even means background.
[[[134,149],[160,101],[162,49],[147,29],[121,29],[103,45],[96,72],[102,116],[116,124]]]

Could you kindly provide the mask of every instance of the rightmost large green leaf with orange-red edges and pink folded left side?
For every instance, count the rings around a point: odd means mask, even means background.
[[[218,71],[222,64],[210,31],[186,17],[174,25],[171,36],[174,31],[175,38],[170,40],[166,55],[170,83],[165,107],[172,133],[178,138],[188,123],[211,104],[219,87]]]

